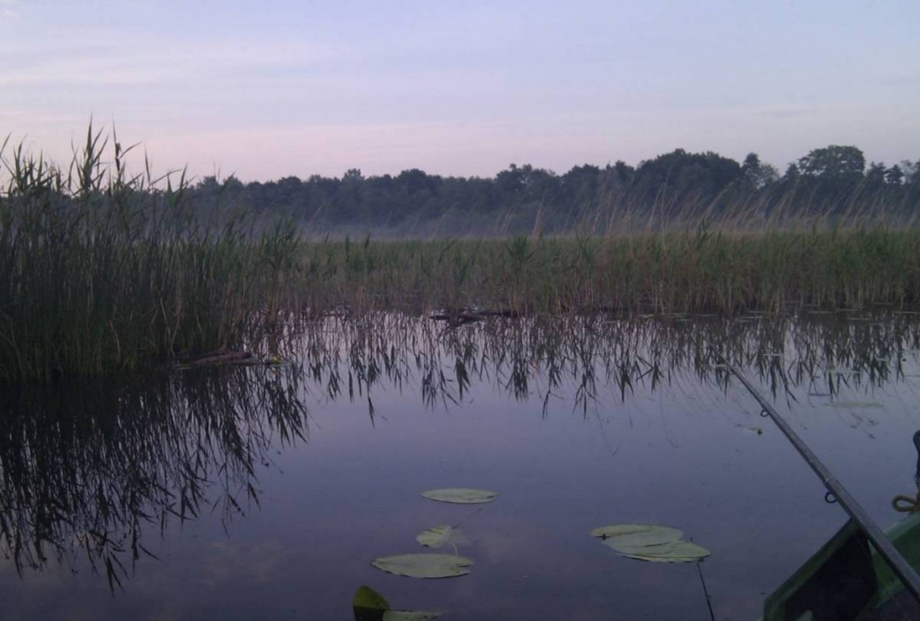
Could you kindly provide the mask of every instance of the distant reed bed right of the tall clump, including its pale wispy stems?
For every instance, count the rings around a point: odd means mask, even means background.
[[[894,198],[892,198],[892,196]],[[901,198],[897,198],[901,196]],[[813,202],[777,193],[628,189],[545,235],[546,210],[500,213],[488,237],[453,218],[429,240],[304,245],[301,291],[313,308],[481,307],[511,313],[777,311],[787,306],[920,305],[920,204],[861,184]],[[521,231],[522,218],[530,223]],[[481,229],[481,226],[478,227]]]

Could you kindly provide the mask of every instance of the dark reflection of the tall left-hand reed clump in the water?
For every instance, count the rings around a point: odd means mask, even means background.
[[[144,532],[259,501],[256,466],[303,440],[297,367],[20,386],[0,408],[0,550],[20,576],[86,558],[110,586]]]

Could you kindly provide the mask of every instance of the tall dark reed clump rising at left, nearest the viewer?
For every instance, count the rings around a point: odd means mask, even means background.
[[[244,214],[193,211],[184,172],[132,175],[129,150],[91,126],[66,169],[21,144],[0,148],[0,380],[237,345],[284,305],[293,225],[255,235]]]

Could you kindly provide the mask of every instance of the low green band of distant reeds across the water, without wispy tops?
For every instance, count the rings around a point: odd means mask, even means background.
[[[312,308],[775,312],[920,303],[920,231],[879,224],[302,247]]]

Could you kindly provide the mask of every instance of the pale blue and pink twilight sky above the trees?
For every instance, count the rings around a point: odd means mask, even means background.
[[[0,0],[0,141],[155,169],[492,176],[684,148],[920,158],[917,0]]]

